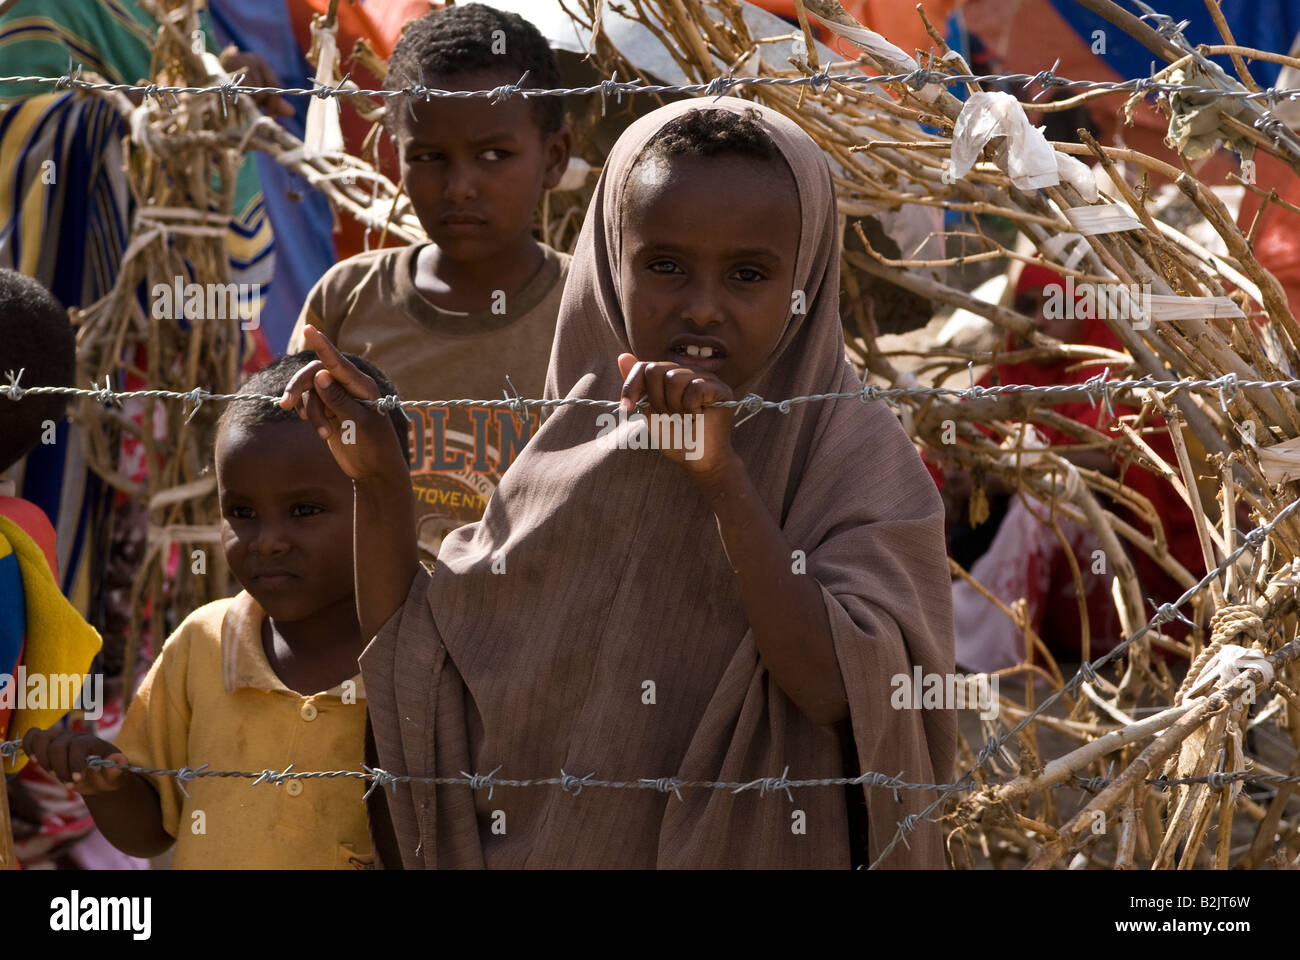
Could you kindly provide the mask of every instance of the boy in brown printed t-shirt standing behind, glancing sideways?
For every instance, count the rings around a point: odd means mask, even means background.
[[[413,21],[386,87],[558,87],[546,39],[482,4]],[[312,289],[289,351],[313,324],[341,350],[378,364],[403,399],[494,398],[506,376],[541,397],[569,258],[532,233],[543,189],[568,167],[572,133],[554,96],[393,98],[386,126],[429,243],[373,250],[334,265]],[[540,424],[493,407],[410,407],[411,483],[420,555],[482,516],[497,481]]]

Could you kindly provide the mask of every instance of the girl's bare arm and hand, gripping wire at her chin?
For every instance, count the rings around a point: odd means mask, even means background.
[[[731,445],[732,411],[705,408],[733,399],[731,389],[673,363],[637,363],[630,354],[619,358],[619,371],[625,377],[624,401],[636,403],[645,395],[656,412],[702,415],[703,449],[697,458],[663,453],[690,473],[718,518],[758,653],[777,686],[814,723],[844,719],[849,699],[822,588],[814,578],[793,572],[793,548]]]

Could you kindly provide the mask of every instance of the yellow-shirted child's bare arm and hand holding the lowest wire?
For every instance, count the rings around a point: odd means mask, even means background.
[[[53,727],[32,727],[22,738],[22,749],[31,762],[86,799],[95,826],[124,853],[156,857],[172,846],[172,835],[162,829],[157,791],[146,777],[114,767],[92,770],[86,766],[87,757],[129,762],[108,740]]]

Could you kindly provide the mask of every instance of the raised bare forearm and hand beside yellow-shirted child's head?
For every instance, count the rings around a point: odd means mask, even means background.
[[[299,416],[311,420],[334,460],[352,477],[356,614],[363,636],[370,637],[406,602],[420,563],[411,476],[391,420],[356,402],[378,398],[374,380],[315,327],[306,327],[303,336],[320,359],[294,375],[281,406],[296,407]]]

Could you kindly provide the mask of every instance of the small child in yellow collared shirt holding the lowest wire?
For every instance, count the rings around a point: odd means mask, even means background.
[[[311,351],[255,373],[240,393],[280,394]],[[354,356],[376,380],[370,363]],[[391,390],[391,385],[387,386]],[[407,423],[390,414],[403,453]],[[221,546],[243,591],[205,604],[168,637],[116,743],[31,728],[23,751],[86,797],[113,846],[176,868],[350,869],[374,862],[360,779],[143,775],[88,767],[359,769],[364,648],[352,566],[352,483],[292,411],[235,401],[214,444]],[[339,550],[341,545],[346,549]],[[329,555],[329,563],[317,558]]]

